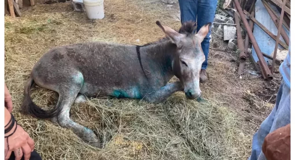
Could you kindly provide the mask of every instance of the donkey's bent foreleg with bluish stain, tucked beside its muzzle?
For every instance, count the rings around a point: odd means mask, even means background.
[[[179,81],[167,83],[160,89],[145,95],[145,100],[149,102],[160,102],[168,98],[172,93],[177,91],[183,91],[183,85]]]

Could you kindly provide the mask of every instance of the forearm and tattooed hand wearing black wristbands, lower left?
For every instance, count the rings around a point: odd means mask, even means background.
[[[4,107],[4,129],[7,130],[9,126],[12,126],[11,130],[4,134],[5,160],[9,159],[12,151],[14,151],[16,160],[20,160],[23,155],[24,159],[28,160],[30,159],[31,152],[34,151],[34,141],[12,118],[12,114]]]

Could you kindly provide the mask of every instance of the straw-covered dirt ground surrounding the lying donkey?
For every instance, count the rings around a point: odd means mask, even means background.
[[[207,103],[175,93],[160,104],[90,98],[73,105],[71,118],[102,137],[104,149],[88,145],[70,129],[23,115],[19,107],[24,85],[49,49],[83,41],[145,44],[164,36],[156,20],[174,29],[181,26],[178,3],[160,0],[104,1],[101,20],[74,12],[71,2],[35,2],[23,9],[22,17],[5,17],[5,83],[13,97],[13,114],[44,159],[248,158],[252,136],[273,108],[281,77],[276,69],[274,80],[264,82],[259,74],[250,74],[255,67],[249,60],[245,72],[237,75],[238,54],[213,33],[209,80],[201,84]],[[35,87],[32,97],[39,106],[53,107],[58,95]]]

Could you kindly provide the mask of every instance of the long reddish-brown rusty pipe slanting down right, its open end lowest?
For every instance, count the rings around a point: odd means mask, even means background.
[[[268,68],[268,66],[267,66],[267,64],[266,64],[266,62],[264,60],[264,57],[263,57],[263,55],[261,53],[261,50],[260,50],[260,48],[259,48],[259,46],[257,44],[257,41],[256,41],[253,33],[251,32],[250,26],[249,26],[249,24],[247,22],[247,19],[246,19],[245,15],[243,14],[243,11],[242,11],[242,8],[241,8],[239,2],[237,0],[234,0],[234,2],[235,2],[235,5],[237,7],[238,12],[240,13],[240,17],[241,17],[241,19],[242,19],[242,21],[243,21],[243,23],[245,25],[245,28],[246,28],[246,30],[247,30],[247,32],[249,34],[249,38],[250,38],[250,40],[252,42],[252,45],[253,45],[253,47],[254,47],[254,49],[256,51],[257,57],[261,62],[261,66],[265,70],[266,75],[268,77],[272,77],[271,71],[269,70],[269,68]]]

